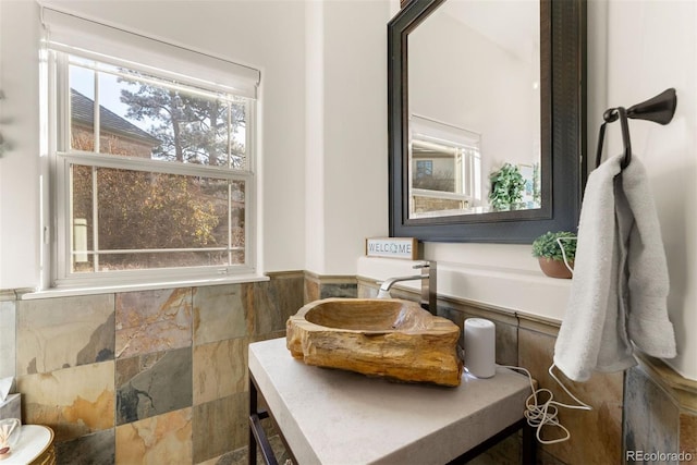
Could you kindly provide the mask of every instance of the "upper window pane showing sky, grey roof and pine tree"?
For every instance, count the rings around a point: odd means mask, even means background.
[[[72,56],[70,86],[72,138],[76,140],[80,136],[80,144],[75,142],[73,148],[181,163],[247,168],[245,98],[216,95]],[[98,118],[95,118],[95,87]],[[83,140],[94,139],[96,125],[99,140],[91,144]],[[85,131],[91,137],[83,136]]]

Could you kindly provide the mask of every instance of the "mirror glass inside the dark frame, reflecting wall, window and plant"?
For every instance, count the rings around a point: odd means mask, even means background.
[[[409,33],[409,219],[541,207],[539,19],[450,0]]]

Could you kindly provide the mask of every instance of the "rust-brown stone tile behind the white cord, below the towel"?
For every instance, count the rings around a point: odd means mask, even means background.
[[[564,404],[574,401],[549,376],[555,338],[521,328],[518,331],[518,366],[527,368],[540,388],[550,389],[554,400]],[[541,445],[542,452],[568,464],[617,464],[622,457],[622,386],[623,374],[595,374],[587,382],[573,382],[558,370],[566,388],[592,411],[560,408],[560,423],[571,432],[571,439]],[[554,427],[542,430],[543,439],[560,438]]]

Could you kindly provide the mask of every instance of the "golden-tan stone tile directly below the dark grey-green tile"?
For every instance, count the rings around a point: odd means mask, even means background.
[[[191,464],[192,408],[117,427],[118,464]]]

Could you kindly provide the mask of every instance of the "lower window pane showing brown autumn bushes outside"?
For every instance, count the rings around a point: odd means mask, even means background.
[[[244,264],[244,181],[71,168],[73,272]]]

